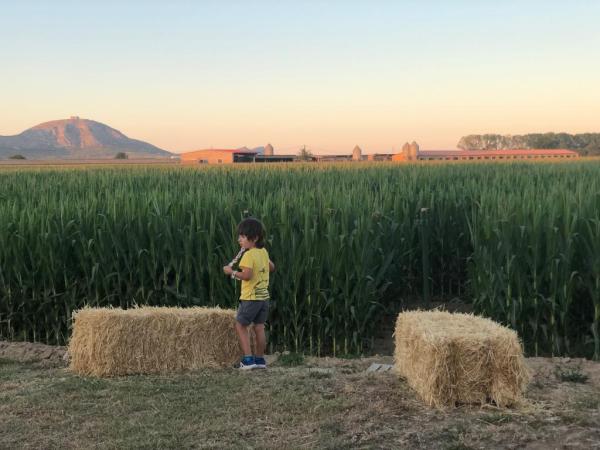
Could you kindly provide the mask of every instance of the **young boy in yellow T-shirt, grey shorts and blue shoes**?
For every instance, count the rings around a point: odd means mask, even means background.
[[[233,270],[227,265],[223,267],[223,272],[233,279],[242,280],[240,305],[235,323],[244,352],[239,368],[266,369],[264,352],[267,347],[265,320],[269,312],[269,273],[275,270],[275,265],[264,248],[265,230],[258,219],[249,217],[242,220],[237,231],[240,247],[245,249],[239,264],[240,270]],[[248,326],[251,323],[254,323],[256,334],[256,355],[252,355],[250,350]]]

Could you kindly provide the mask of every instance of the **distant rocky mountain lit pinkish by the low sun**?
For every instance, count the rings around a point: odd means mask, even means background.
[[[15,136],[0,136],[0,158],[23,155],[27,159],[168,158],[171,153],[147,142],[130,139],[94,120],[71,117],[36,125]]]

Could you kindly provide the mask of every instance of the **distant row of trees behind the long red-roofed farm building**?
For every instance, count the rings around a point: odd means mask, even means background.
[[[600,133],[471,134],[460,138],[457,147],[463,150],[561,148],[591,156],[600,155]]]

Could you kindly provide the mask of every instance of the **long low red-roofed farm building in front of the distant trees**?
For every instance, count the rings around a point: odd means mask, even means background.
[[[404,144],[402,152],[392,156],[393,161],[464,161],[500,159],[577,158],[577,152],[565,149],[514,149],[514,150],[419,150],[419,146]]]

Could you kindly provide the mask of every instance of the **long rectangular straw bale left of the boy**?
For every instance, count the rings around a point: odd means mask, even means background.
[[[98,377],[231,367],[241,356],[235,311],[84,308],[73,314],[70,369]]]

